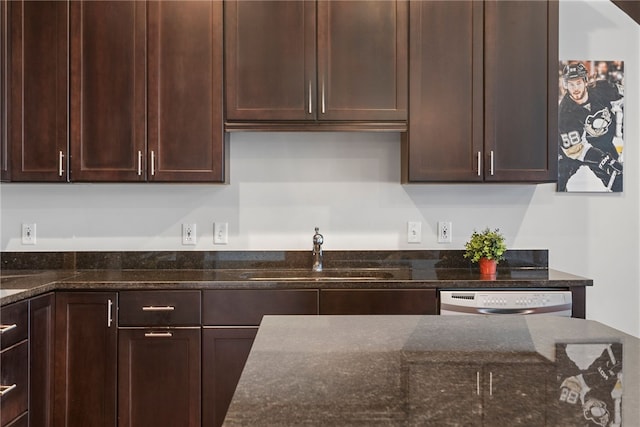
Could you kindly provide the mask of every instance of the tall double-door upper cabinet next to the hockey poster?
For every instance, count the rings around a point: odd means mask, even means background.
[[[554,181],[557,2],[415,1],[410,27],[403,181]]]

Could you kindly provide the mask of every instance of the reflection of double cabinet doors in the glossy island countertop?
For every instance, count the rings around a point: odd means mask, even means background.
[[[409,425],[548,425],[547,363],[407,365]]]

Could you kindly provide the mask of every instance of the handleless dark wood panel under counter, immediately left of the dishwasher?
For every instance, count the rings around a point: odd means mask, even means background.
[[[320,314],[437,314],[435,289],[322,289]]]

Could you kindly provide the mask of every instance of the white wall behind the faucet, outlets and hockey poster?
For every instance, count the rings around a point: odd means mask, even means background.
[[[461,249],[474,228],[500,227],[510,248],[548,248],[551,268],[594,280],[588,318],[640,336],[639,40],[606,0],[560,4],[562,59],[625,61],[622,194],[403,186],[395,133],[234,133],[228,185],[3,184],[0,249],[307,250],[314,226],[326,250]],[[439,220],[453,243],[436,242]],[[229,223],[228,245],[213,244],[215,221]],[[406,243],[407,221],[422,221],[422,243]],[[23,222],[37,245],[21,244]],[[197,224],[197,246],[181,245],[183,222]]]

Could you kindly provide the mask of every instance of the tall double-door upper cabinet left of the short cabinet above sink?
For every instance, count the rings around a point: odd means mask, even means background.
[[[222,2],[71,3],[71,180],[224,181]]]

